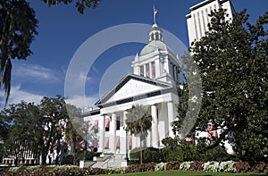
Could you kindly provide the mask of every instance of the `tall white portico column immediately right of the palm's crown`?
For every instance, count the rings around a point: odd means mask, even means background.
[[[152,121],[152,147],[158,147],[158,130],[157,130],[157,109],[156,105],[151,105]]]

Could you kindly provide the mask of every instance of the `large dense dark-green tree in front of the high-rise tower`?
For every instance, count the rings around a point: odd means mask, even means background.
[[[255,25],[247,22],[246,11],[232,21],[225,12],[212,12],[209,31],[190,47],[202,79],[197,127],[205,130],[213,122],[222,129],[207,148],[218,146],[231,132],[239,158],[259,160],[268,153],[268,12]]]

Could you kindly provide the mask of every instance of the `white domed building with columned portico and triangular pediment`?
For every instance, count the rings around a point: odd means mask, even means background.
[[[172,137],[172,125],[179,102],[179,58],[163,42],[163,29],[154,23],[148,32],[148,44],[132,62],[133,74],[127,74],[96,102],[96,108],[83,111],[89,123],[88,144],[94,151],[126,154],[140,147],[138,136],[126,134],[125,122],[133,105],[144,105],[152,115],[143,146],[163,147],[162,139]]]

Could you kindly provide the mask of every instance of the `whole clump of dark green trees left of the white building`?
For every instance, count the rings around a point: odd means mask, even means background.
[[[63,96],[43,97],[40,105],[21,102],[0,112],[0,126],[4,126],[4,156],[23,158],[31,151],[34,158],[45,164],[46,155],[55,149],[63,150],[65,123],[70,122]]]

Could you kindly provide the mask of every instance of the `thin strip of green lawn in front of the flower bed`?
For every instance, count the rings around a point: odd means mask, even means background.
[[[228,173],[228,172],[193,172],[193,171],[166,171],[166,172],[136,172],[126,174],[111,174],[111,176],[255,176],[255,175],[267,175],[264,173]]]

